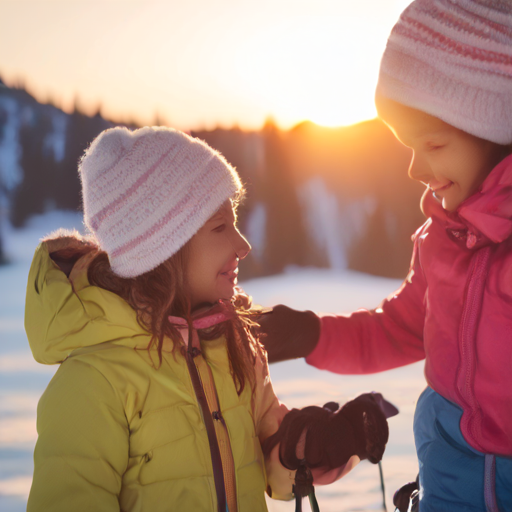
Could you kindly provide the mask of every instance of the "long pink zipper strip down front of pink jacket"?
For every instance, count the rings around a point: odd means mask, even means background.
[[[480,406],[473,390],[473,377],[475,372],[475,350],[478,323],[483,303],[484,288],[489,271],[491,247],[478,250],[471,261],[471,270],[468,278],[464,309],[459,330],[460,367],[457,376],[459,397],[469,411],[462,415],[461,426],[465,426],[472,436],[472,442],[479,446]]]

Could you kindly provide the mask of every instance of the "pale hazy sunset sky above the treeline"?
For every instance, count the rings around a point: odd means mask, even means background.
[[[0,76],[40,101],[178,128],[375,115],[409,0],[0,0]]]

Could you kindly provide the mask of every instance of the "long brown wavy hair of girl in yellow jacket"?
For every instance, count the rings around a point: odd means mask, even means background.
[[[155,269],[134,278],[122,278],[112,271],[107,254],[99,251],[88,268],[90,284],[119,295],[137,312],[139,324],[151,333],[147,348],[156,347],[160,364],[165,338],[173,340],[173,351],[181,347],[178,330],[168,317],[190,319],[191,316],[185,282],[187,256],[188,244]],[[254,389],[256,358],[264,360],[265,351],[257,339],[257,324],[249,313],[250,298],[237,289],[226,306],[233,313],[232,319],[214,328],[199,330],[198,334],[201,340],[225,336],[231,375],[240,395],[247,378]]]

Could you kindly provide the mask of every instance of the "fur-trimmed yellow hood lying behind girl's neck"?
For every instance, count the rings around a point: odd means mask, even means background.
[[[150,335],[131,306],[89,284],[87,269],[97,251],[78,233],[64,232],[37,247],[25,302],[25,330],[37,362],[61,363],[74,350],[105,342],[148,346]]]

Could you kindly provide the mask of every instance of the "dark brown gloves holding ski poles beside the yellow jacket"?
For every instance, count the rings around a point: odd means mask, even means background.
[[[338,404],[329,402],[324,407],[291,410],[264,443],[265,453],[279,444],[281,464],[291,470],[302,460],[311,469],[339,468],[353,455],[379,462],[389,437],[386,416],[398,410],[379,393],[360,395],[337,408]]]

